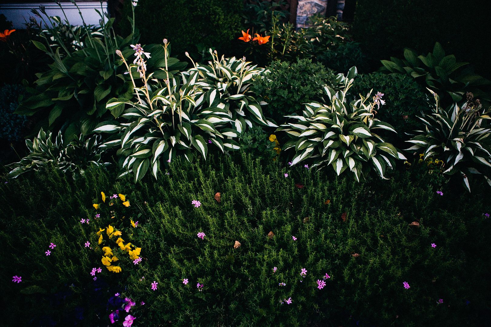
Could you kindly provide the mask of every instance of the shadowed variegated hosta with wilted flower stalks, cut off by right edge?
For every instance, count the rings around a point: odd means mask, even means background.
[[[416,131],[417,135],[407,141],[413,144],[407,150],[423,151],[425,159],[432,156],[443,160],[446,168],[443,173],[459,173],[469,192],[471,174],[483,175],[491,185],[490,109],[473,100],[471,93],[467,93],[462,108],[454,104],[443,109],[438,95],[430,92],[436,100],[435,110],[419,117],[425,130]]]

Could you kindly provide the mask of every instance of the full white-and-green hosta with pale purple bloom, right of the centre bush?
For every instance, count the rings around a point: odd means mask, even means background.
[[[292,137],[283,147],[283,150],[295,149],[292,165],[308,159],[312,162],[311,169],[330,165],[338,176],[349,171],[360,181],[372,170],[386,178],[385,171],[395,167],[395,159],[406,159],[376,133],[382,129],[396,132],[374,117],[375,109],[379,110],[383,104],[380,93],[372,102],[370,92],[348,104],[346,94],[355,74],[352,68],[341,80],[344,84],[341,91],[334,92],[326,86],[328,100],[324,103],[306,103],[302,116],[285,116],[290,120],[277,130]]]

